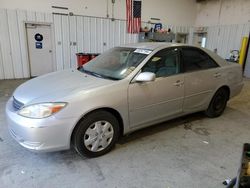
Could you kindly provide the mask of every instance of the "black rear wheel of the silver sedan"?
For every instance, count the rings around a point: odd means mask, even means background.
[[[228,90],[226,90],[225,88],[220,88],[214,94],[208,106],[208,109],[205,111],[205,114],[210,118],[215,118],[220,116],[224,112],[227,106],[228,99],[229,99]]]

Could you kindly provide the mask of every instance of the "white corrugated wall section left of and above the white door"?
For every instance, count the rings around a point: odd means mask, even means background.
[[[27,78],[25,21],[53,22],[52,14],[0,9],[0,79]]]

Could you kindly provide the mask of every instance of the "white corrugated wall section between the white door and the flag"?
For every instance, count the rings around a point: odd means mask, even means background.
[[[57,14],[53,18],[57,70],[75,67],[77,52],[102,53],[138,41],[137,34],[126,33],[124,20]]]

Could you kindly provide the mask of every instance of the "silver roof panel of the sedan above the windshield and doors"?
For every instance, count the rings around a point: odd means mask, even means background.
[[[141,42],[141,43],[133,43],[133,44],[125,44],[121,47],[128,47],[128,48],[141,48],[147,50],[155,50],[161,47],[175,47],[175,46],[191,46],[182,43],[170,43],[170,42]]]

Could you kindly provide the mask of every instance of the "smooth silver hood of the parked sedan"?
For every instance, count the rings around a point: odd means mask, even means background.
[[[54,102],[76,91],[89,90],[115,81],[94,77],[77,70],[64,70],[33,78],[20,85],[13,96],[23,104]]]

